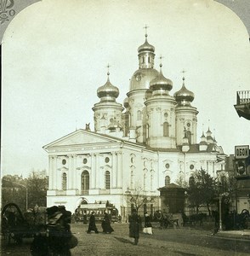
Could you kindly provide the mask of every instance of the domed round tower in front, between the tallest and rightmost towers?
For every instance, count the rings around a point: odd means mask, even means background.
[[[147,122],[147,144],[151,148],[176,148],[175,140],[175,113],[176,105],[173,96],[169,95],[173,83],[160,73],[150,83],[150,90],[145,102]]]

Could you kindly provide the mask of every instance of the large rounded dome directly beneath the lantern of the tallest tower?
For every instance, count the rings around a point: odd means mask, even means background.
[[[139,68],[130,80],[130,91],[149,89],[151,80],[156,79],[159,72],[155,68]]]

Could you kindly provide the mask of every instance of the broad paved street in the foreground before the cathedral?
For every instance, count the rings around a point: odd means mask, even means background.
[[[71,249],[75,255],[249,255],[250,240],[213,236],[210,230],[202,227],[183,227],[160,230],[154,224],[154,234],[140,234],[139,244],[134,246],[133,238],[128,237],[128,224],[112,224],[115,232],[87,234],[88,224],[71,224],[72,233],[77,236],[78,245]],[[2,240],[3,241],[3,240]],[[31,239],[23,244],[6,246],[2,242],[1,255],[30,255]]]

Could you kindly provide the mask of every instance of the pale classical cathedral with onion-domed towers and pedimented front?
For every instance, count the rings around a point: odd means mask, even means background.
[[[174,93],[162,64],[154,67],[155,47],[138,48],[139,69],[130,79],[123,104],[119,89],[107,81],[97,90],[89,125],[44,146],[48,153],[47,206],[64,205],[75,212],[81,204],[109,201],[123,217],[128,195],[139,191],[145,211],[161,209],[159,188],[188,183],[192,172],[212,177],[224,171],[225,154],[209,127],[197,140],[194,93],[183,84]]]

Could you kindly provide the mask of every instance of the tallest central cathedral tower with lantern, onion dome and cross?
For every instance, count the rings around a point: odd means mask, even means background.
[[[145,26],[147,29],[147,26]],[[145,33],[145,43],[138,48],[139,69],[130,80],[130,90],[127,93],[129,106],[129,128],[136,130],[137,142],[146,142],[146,110],[145,92],[149,89],[152,79],[159,74],[154,69],[155,47],[148,43]]]

